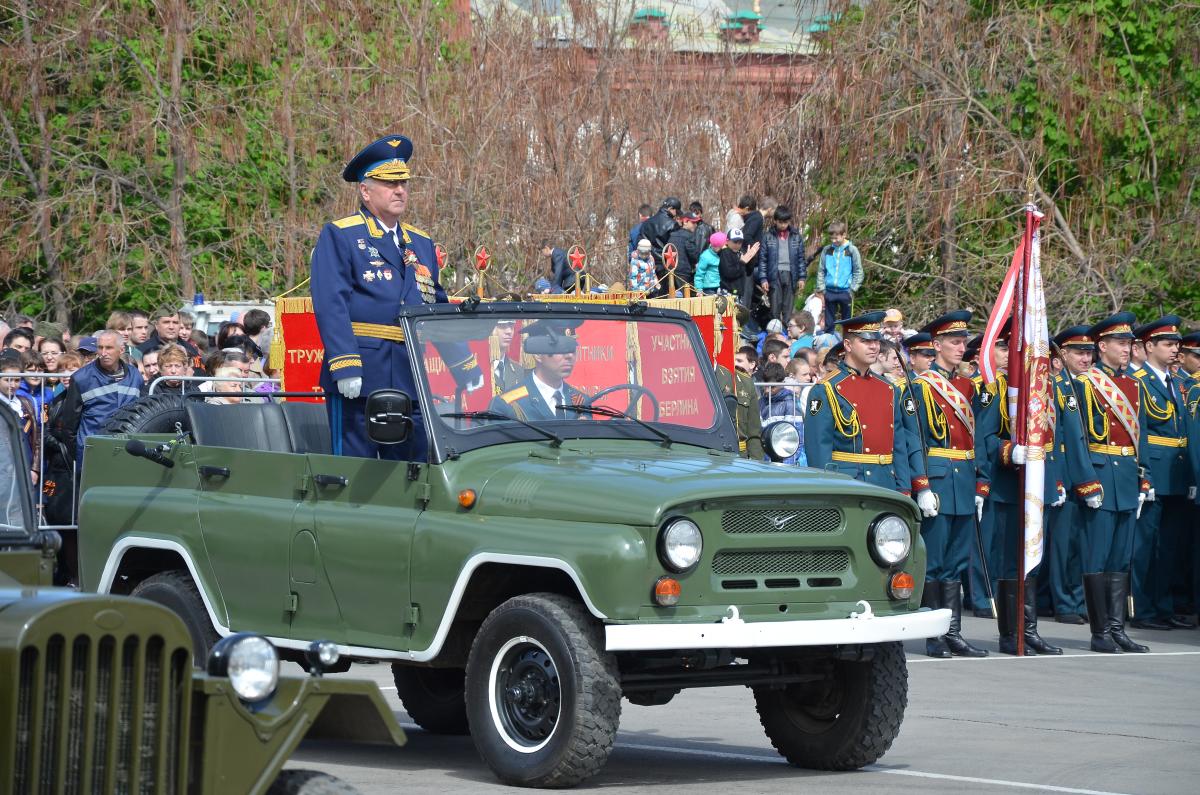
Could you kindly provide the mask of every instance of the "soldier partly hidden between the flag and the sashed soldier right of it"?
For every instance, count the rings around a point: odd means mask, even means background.
[[[1090,327],[1073,325],[1054,339],[1062,359],[1062,372],[1054,377],[1055,452],[1048,461],[1046,483],[1062,483],[1069,497],[1046,506],[1046,560],[1050,599],[1055,621],[1087,623],[1084,605],[1084,573],[1081,568],[1084,514],[1079,502],[1082,494],[1096,490],[1098,480],[1092,470],[1087,438],[1080,419],[1079,376],[1092,367],[1096,343],[1087,335]]]

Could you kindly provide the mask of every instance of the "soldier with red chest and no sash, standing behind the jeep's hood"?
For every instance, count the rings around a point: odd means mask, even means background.
[[[871,372],[880,355],[884,312],[841,321],[846,358],[809,390],[804,449],[809,466],[864,483],[916,495],[925,516],[937,515],[937,498],[925,477],[919,440],[905,428],[916,416],[912,398]]]

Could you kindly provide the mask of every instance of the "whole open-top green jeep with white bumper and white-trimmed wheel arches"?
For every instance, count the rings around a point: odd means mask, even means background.
[[[691,687],[750,687],[796,765],[887,751],[900,641],[949,621],[919,609],[912,501],[738,458],[680,312],[469,303],[388,330],[360,342],[404,340],[416,394],[370,395],[366,432],[425,436],[420,460],[331,455],[317,404],[167,406],[173,436],[88,441],[84,587],[170,606],[198,647],[386,660],[416,723],[469,731],[511,783],[587,778],[623,697]],[[482,385],[451,377],[467,355]]]

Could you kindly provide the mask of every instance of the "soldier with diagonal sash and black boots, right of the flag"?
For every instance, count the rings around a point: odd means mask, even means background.
[[[1138,515],[1151,490],[1142,477],[1146,408],[1141,387],[1129,376],[1133,312],[1118,312],[1091,329],[1099,363],[1079,378],[1080,414],[1087,449],[1099,480],[1080,489],[1084,512],[1084,598],[1092,629],[1092,651],[1144,652],[1126,634],[1129,563]]]

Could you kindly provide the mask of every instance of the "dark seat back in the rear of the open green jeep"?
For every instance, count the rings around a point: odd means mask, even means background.
[[[324,453],[332,450],[329,419],[320,404],[245,402],[187,404],[192,438],[197,444],[271,453]]]

